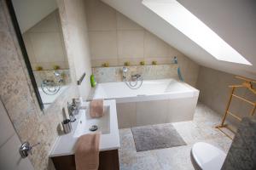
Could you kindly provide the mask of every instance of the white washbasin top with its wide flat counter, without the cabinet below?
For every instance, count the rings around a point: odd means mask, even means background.
[[[96,119],[90,118],[89,105],[89,102],[82,105],[84,109],[79,111],[77,121],[72,123],[73,132],[63,134],[56,139],[54,147],[50,151],[50,157],[73,155],[79,136],[85,133],[93,133],[89,130],[91,125],[97,125],[99,129],[96,132],[102,132],[99,144],[100,151],[119,149],[119,128],[115,100],[104,100],[105,115]]]

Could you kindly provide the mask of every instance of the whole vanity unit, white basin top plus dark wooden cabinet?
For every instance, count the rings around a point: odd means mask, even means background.
[[[90,118],[88,105],[89,103],[82,105],[83,109],[79,111],[76,122],[72,123],[73,131],[56,139],[55,145],[50,151],[49,157],[54,161],[56,170],[75,169],[74,146],[79,136],[95,132],[102,133],[99,146],[99,169],[119,169],[118,149],[120,144],[115,100],[104,100],[104,116],[100,118]],[[89,128],[92,125],[96,125],[98,130],[91,132]],[[109,158],[113,160],[109,160]]]

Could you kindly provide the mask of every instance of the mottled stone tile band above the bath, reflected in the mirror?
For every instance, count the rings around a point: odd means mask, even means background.
[[[33,71],[38,87],[41,86],[41,82],[43,82],[43,80],[53,80],[54,82],[58,82],[59,78],[55,77],[55,71],[58,71],[61,74],[60,78],[63,78],[64,80],[62,85],[68,85],[71,83],[69,70]]]

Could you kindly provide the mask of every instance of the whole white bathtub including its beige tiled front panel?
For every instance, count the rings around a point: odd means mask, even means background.
[[[119,128],[193,119],[199,91],[173,79],[143,81],[138,89],[125,82],[97,84],[89,99],[116,99]]]

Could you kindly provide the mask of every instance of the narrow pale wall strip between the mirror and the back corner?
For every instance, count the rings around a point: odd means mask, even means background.
[[[86,98],[90,92],[91,65],[84,0],[63,0],[65,7],[61,0],[60,2],[60,8],[65,8],[66,12],[61,14],[61,24],[67,56],[73,59],[73,63],[69,62],[69,65],[74,65],[76,80],[86,73],[84,81],[79,86],[80,96]]]

